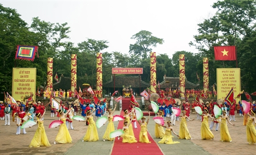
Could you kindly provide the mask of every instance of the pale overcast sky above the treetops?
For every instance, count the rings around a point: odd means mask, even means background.
[[[176,51],[197,52],[189,42],[197,34],[197,24],[215,14],[217,0],[169,1],[11,1],[0,0],[4,7],[17,10],[31,25],[33,17],[52,23],[67,22],[71,27],[71,42],[86,38],[107,40],[108,49],[101,52],[129,52],[135,40],[132,35],[141,30],[164,39],[164,44],[153,48],[157,55]]]

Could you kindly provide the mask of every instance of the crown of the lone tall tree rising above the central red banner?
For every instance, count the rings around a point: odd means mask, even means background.
[[[151,32],[141,30],[134,34],[131,39],[135,39],[135,44],[130,44],[130,54],[139,58],[147,58],[148,53],[152,51],[151,47],[164,43],[164,39],[154,37]]]

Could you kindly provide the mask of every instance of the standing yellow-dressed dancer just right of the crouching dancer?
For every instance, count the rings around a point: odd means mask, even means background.
[[[188,119],[189,121],[194,121],[194,119],[190,120],[190,118],[186,115],[185,110],[182,111],[182,114],[183,116],[181,116],[179,139],[192,139],[189,134],[186,120]]]

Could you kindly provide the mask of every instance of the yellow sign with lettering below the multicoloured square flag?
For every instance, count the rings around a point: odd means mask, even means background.
[[[33,94],[36,100],[37,68],[13,68],[13,88],[11,96],[23,100]]]

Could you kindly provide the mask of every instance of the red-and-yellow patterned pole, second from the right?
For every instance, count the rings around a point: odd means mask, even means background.
[[[180,67],[180,97],[184,98],[185,93],[185,55],[179,55],[179,67]]]

